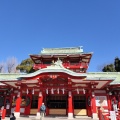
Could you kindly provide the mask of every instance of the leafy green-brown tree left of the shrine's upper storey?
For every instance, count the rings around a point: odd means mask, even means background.
[[[20,70],[20,72],[24,72],[24,73],[32,73],[35,70],[33,69],[33,65],[34,62],[32,61],[32,59],[27,58],[25,60],[23,60],[17,67],[17,70]]]

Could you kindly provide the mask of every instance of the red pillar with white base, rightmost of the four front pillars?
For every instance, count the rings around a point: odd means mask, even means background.
[[[96,110],[96,99],[95,99],[94,91],[92,91],[91,105],[92,105],[92,118],[96,119],[98,118],[98,116],[97,116],[97,110]]]

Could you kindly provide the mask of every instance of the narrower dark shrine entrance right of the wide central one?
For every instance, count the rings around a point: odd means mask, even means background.
[[[73,103],[74,103],[74,115],[87,115],[85,95],[74,96]]]

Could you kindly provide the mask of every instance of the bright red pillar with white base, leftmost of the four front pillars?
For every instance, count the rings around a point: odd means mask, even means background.
[[[15,116],[16,118],[20,117],[20,105],[21,105],[21,92],[18,92],[17,99],[16,99],[16,106],[15,106]]]

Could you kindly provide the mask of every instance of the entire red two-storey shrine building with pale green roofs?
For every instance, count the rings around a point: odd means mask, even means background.
[[[36,72],[0,73],[0,106],[7,115],[36,115],[44,102],[46,115],[98,117],[98,108],[120,108],[120,73],[87,72],[92,52],[82,47],[45,48],[31,54]]]

